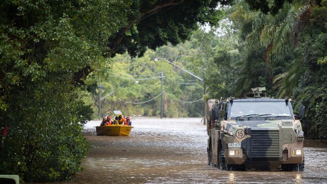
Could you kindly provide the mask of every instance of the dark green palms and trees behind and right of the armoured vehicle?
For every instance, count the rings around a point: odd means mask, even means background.
[[[306,106],[306,135],[325,138],[327,1],[255,2],[239,1],[227,10],[240,30],[234,34],[242,55],[236,94],[260,85],[272,96],[292,97]]]

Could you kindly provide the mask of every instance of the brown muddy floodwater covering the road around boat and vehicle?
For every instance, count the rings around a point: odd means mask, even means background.
[[[134,118],[129,137],[96,136],[83,171],[60,183],[327,183],[327,145],[305,142],[304,172],[221,171],[207,165],[206,126],[199,118]]]

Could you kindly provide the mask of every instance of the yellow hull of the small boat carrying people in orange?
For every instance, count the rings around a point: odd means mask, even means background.
[[[107,136],[129,136],[131,133],[132,126],[128,125],[106,125],[97,126],[97,135],[107,135]]]

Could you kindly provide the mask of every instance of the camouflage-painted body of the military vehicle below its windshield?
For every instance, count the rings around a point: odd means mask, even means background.
[[[265,169],[267,166],[270,170],[280,170],[282,164],[303,163],[303,139],[298,140],[298,135],[303,131],[299,120],[244,118],[235,121],[227,118],[215,123],[215,126],[212,122],[208,126],[210,163],[215,166],[219,165],[220,148],[223,150],[227,165],[245,165],[251,170]],[[228,148],[228,143],[241,143],[241,147]],[[301,154],[292,154],[297,149],[301,150]],[[234,150],[235,153],[237,151],[238,155],[230,156],[230,150]]]

